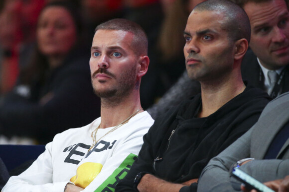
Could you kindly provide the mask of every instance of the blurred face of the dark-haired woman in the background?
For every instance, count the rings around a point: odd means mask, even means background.
[[[76,25],[69,11],[61,6],[49,6],[39,16],[37,42],[47,57],[63,57],[75,45]]]

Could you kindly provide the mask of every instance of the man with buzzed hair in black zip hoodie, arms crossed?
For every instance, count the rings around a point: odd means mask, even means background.
[[[242,80],[250,23],[238,5],[229,0],[198,4],[184,38],[188,76],[200,82],[201,93],[155,120],[117,192],[196,191],[208,161],[251,128],[270,100]]]

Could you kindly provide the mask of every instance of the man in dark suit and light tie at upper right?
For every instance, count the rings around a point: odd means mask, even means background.
[[[288,4],[286,0],[236,1],[246,11],[252,29],[242,77],[275,98],[289,91]]]

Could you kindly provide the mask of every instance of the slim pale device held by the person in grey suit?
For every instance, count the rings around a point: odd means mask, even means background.
[[[257,190],[258,192],[274,192],[272,189],[268,188],[266,185],[258,181],[257,179],[251,177],[244,171],[240,170],[238,166],[232,169],[231,175],[237,180],[241,181],[246,189]]]

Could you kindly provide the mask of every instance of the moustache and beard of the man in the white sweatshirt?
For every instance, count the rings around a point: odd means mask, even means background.
[[[119,81],[117,81],[116,85],[113,85],[113,87],[104,89],[104,90],[99,90],[97,87],[93,86],[94,93],[100,97],[100,98],[112,98],[115,97],[115,99],[123,98],[124,96],[127,96],[131,93],[131,91],[134,89],[136,86],[136,68],[137,65],[134,64],[133,67],[131,67],[129,70],[124,71],[121,76]],[[112,78],[116,79],[116,75],[108,72],[106,69],[99,68],[97,71],[93,73],[92,76],[96,75],[97,73],[104,73]]]

